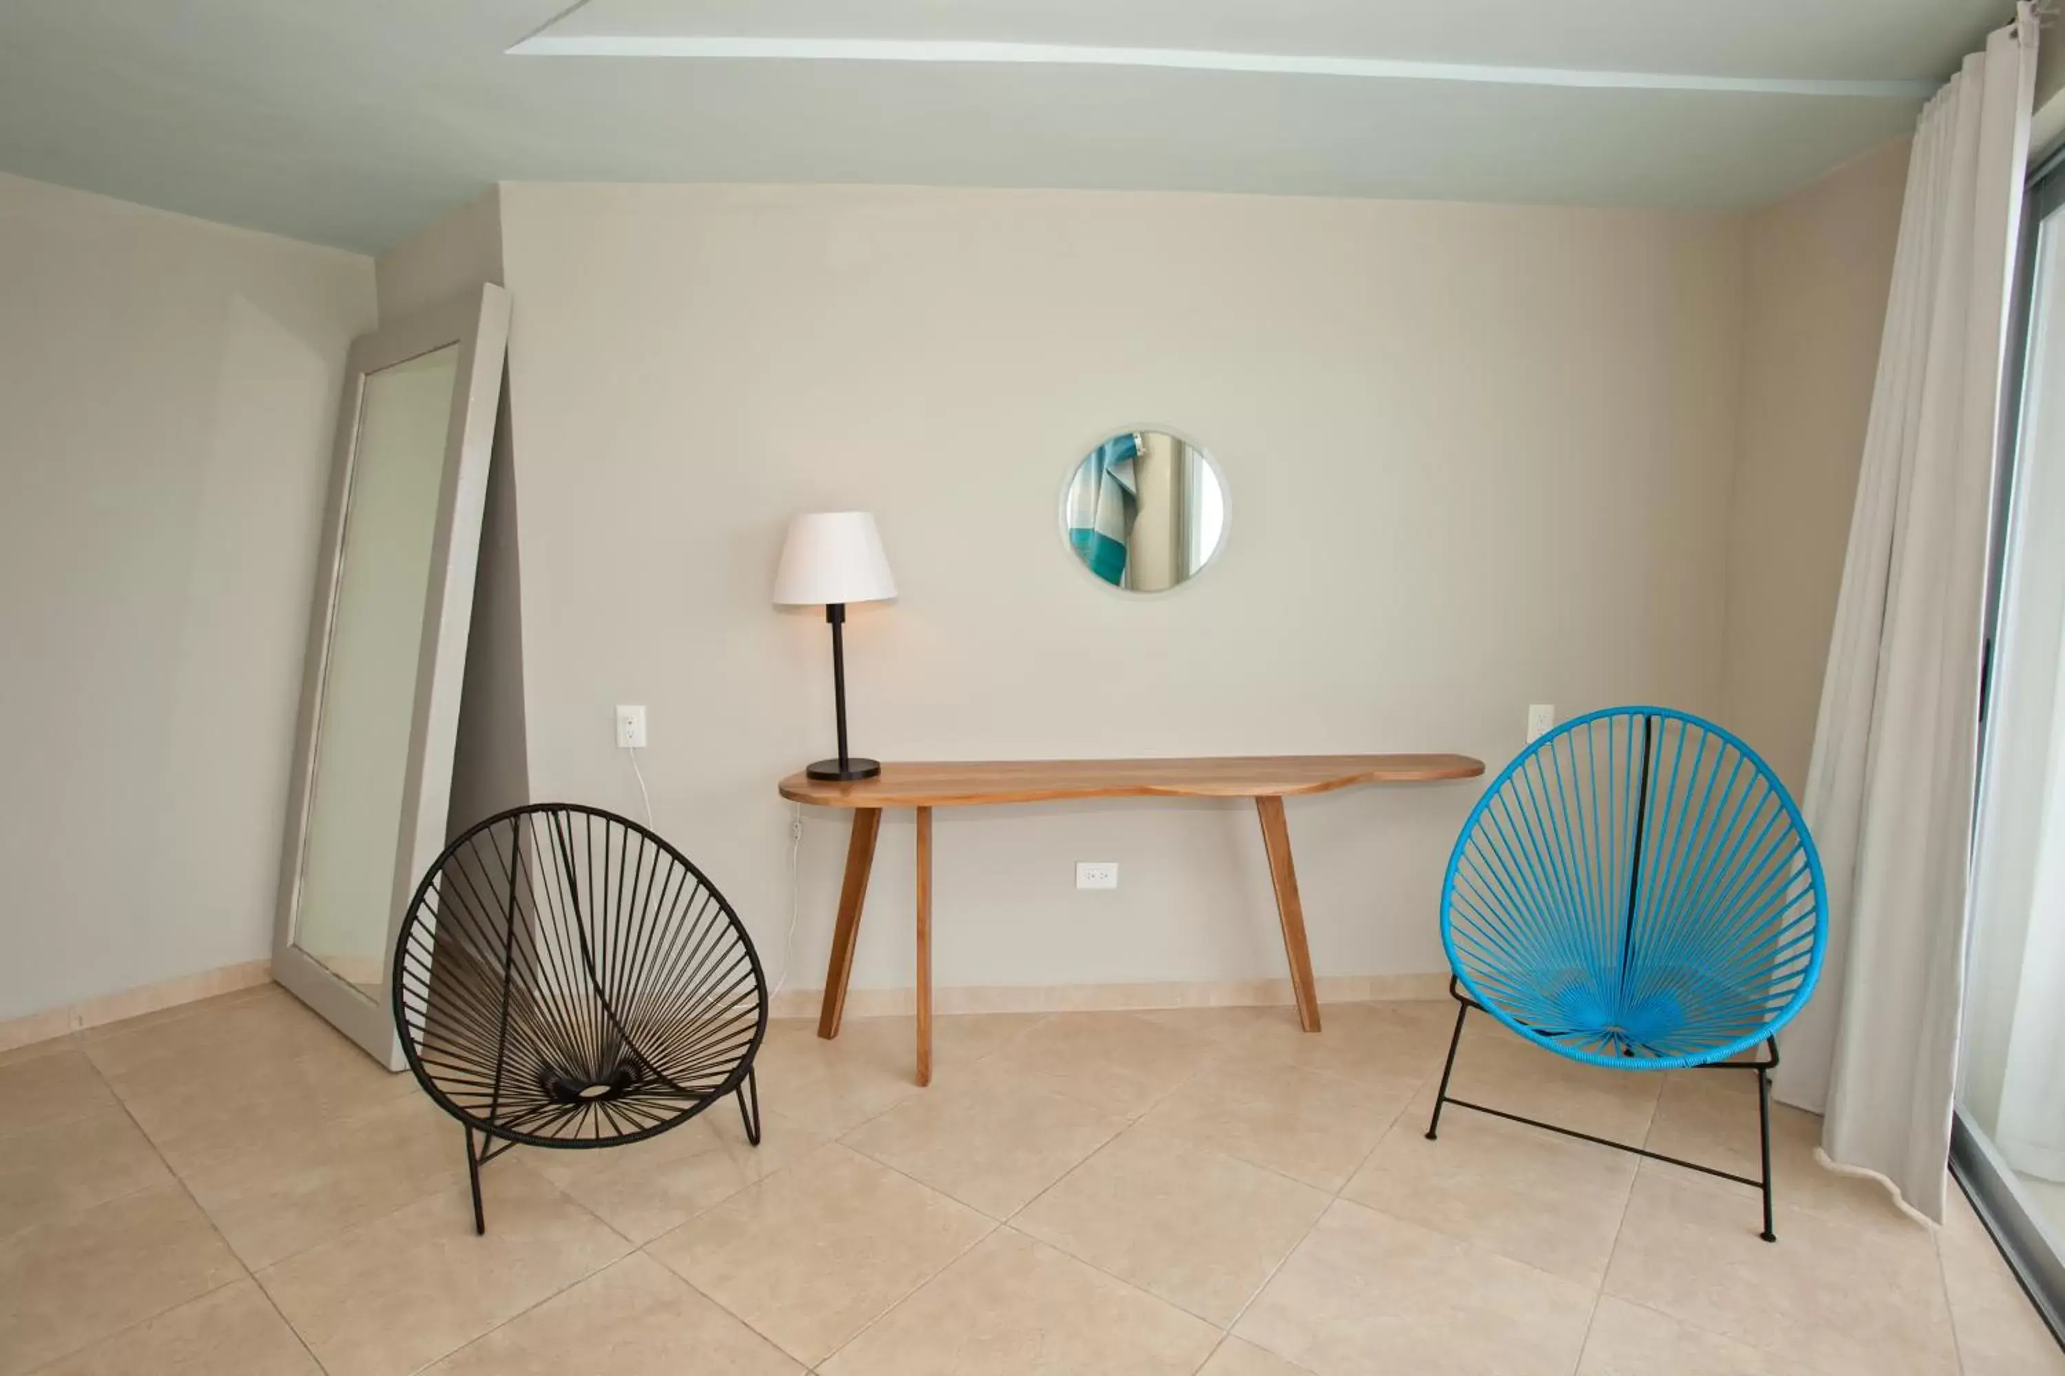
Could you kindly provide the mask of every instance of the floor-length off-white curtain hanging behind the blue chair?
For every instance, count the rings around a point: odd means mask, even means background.
[[[1923,109],[1821,683],[1805,813],[1828,871],[1821,990],[1778,1097],[1943,1217],[1964,996],[1980,602],[2036,17]]]

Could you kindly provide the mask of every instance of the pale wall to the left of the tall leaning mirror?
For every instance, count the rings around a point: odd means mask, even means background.
[[[0,175],[0,1017],[260,959],[372,262]]]

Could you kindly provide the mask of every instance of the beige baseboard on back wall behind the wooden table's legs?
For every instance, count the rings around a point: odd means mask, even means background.
[[[1320,1003],[1441,998],[1446,974],[1320,976]],[[931,990],[933,1013],[1123,1013],[1142,1009],[1266,1009],[1289,1005],[1291,980],[1220,980],[1198,984],[971,984]],[[774,996],[774,1017],[818,1017],[822,988],[791,988]],[[855,988],[847,1017],[909,1017],[917,992]]]

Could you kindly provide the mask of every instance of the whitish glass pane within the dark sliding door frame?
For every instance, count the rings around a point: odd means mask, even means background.
[[[2038,245],[1972,873],[1962,1100],[2065,1180],[2065,217]]]

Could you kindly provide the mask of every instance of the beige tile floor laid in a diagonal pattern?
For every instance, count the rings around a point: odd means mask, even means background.
[[[279,990],[0,1056],[0,1376],[2065,1376],[1970,1209],[1452,1110],[1450,1005],[776,1023],[717,1110],[487,1168]],[[1749,1077],[1476,1025],[1458,1091],[1747,1170]]]

